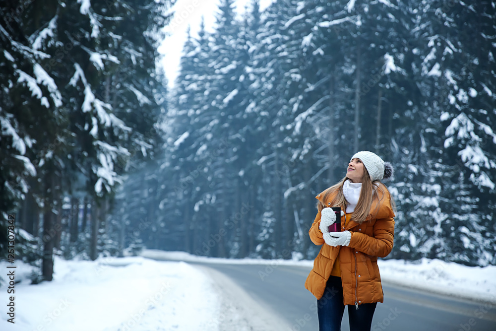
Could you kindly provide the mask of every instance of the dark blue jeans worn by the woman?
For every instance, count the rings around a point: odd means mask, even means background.
[[[376,302],[348,305],[350,331],[370,331]],[[340,331],[343,319],[343,285],[341,277],[330,276],[325,286],[324,294],[317,300],[318,330]]]

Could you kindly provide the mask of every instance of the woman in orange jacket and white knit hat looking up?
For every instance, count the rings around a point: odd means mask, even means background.
[[[317,216],[310,239],[322,245],[305,287],[317,298],[320,331],[341,329],[348,306],[350,331],[370,331],[377,302],[383,301],[377,257],[393,248],[394,201],[380,182],[393,175],[390,163],[376,154],[353,155],[346,177],[315,198]],[[341,207],[341,231],[329,232]]]

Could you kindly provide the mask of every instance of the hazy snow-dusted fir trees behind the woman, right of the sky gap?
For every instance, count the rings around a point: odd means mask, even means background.
[[[230,3],[221,3],[220,17],[231,17]],[[494,61],[492,44],[484,42],[491,26],[475,19],[483,12],[494,17],[493,9],[461,1],[278,0],[260,13],[260,27],[240,21],[230,34],[231,24],[218,18],[209,53],[197,46],[187,52],[184,64],[198,65],[183,67],[176,89],[175,102],[195,100],[191,107],[201,109],[195,115],[213,121],[191,120],[190,130],[183,126],[172,140],[181,142],[178,155],[195,155],[187,167],[204,169],[210,185],[203,189],[196,186],[203,178],[195,180],[188,213],[176,212],[190,222],[189,246],[225,228],[239,187],[250,191],[241,197],[254,206],[248,228],[236,224],[208,253],[197,253],[288,258],[282,252],[289,248],[310,257],[312,197],[344,176],[349,155],[368,149],[397,170],[388,184],[398,206],[391,257],[492,263],[495,247],[484,234],[495,231],[492,211],[484,215],[476,206],[494,204],[491,181],[483,180],[493,171],[494,73],[480,77],[490,70],[469,67],[481,52],[485,64]],[[484,31],[481,47],[469,47],[469,34],[461,33],[467,24]],[[185,132],[195,138],[178,140]],[[227,137],[229,148],[203,163],[210,136]],[[181,160],[175,164],[182,168]],[[189,231],[195,228],[200,238]]]

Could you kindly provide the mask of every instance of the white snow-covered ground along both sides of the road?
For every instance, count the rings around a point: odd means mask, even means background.
[[[173,261],[157,262],[148,257]],[[270,323],[282,323],[270,320],[270,307],[258,307],[255,302],[248,305],[249,309],[237,305],[232,297],[245,295],[243,302],[250,298],[227,277],[184,261],[312,265],[311,261],[207,259],[182,252],[148,250],[141,257],[94,262],[57,258],[54,281],[29,285],[30,266],[17,264],[15,281],[20,282],[15,284],[15,325],[6,322],[8,317],[3,312],[0,329],[224,331],[271,330]],[[0,263],[3,279],[6,266]],[[379,261],[379,268],[384,282],[496,303],[496,266],[389,260]],[[6,307],[8,296],[2,285],[1,307]]]

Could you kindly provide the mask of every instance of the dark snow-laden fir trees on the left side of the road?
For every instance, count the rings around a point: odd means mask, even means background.
[[[51,280],[54,250],[70,257],[79,238],[96,259],[105,249],[99,240],[112,242],[112,196],[131,157],[149,157],[160,142],[157,43],[171,3],[4,2],[2,210],[20,210],[20,227],[39,236],[43,278]]]

